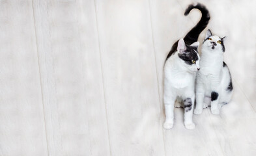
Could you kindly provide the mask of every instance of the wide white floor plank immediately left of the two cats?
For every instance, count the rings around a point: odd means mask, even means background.
[[[149,1],[96,1],[112,155],[165,155]]]

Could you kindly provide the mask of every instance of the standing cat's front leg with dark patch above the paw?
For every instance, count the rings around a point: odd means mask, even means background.
[[[195,123],[193,123],[193,105],[195,101],[195,95],[187,96],[183,99],[184,103],[184,125],[186,129],[195,129]]]

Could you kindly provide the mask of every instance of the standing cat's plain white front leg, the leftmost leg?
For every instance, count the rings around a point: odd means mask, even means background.
[[[174,103],[176,96],[171,90],[165,89],[164,92],[164,107],[165,107],[165,122],[164,128],[171,129],[173,127],[174,120]]]

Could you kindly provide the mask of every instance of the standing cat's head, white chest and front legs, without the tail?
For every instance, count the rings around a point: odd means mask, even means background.
[[[193,105],[195,101],[195,76],[199,67],[199,54],[196,49],[199,42],[185,45],[184,40],[178,41],[177,53],[165,62],[164,67],[164,105],[165,129],[173,127],[173,109],[175,100],[182,99],[184,105],[184,125],[187,129],[194,129]]]

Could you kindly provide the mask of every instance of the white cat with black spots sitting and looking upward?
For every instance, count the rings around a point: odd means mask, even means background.
[[[233,85],[231,73],[223,62],[226,37],[206,32],[201,51],[201,70],[196,79],[196,106],[194,114],[201,114],[210,105],[212,114],[220,114],[220,108],[231,101]]]

